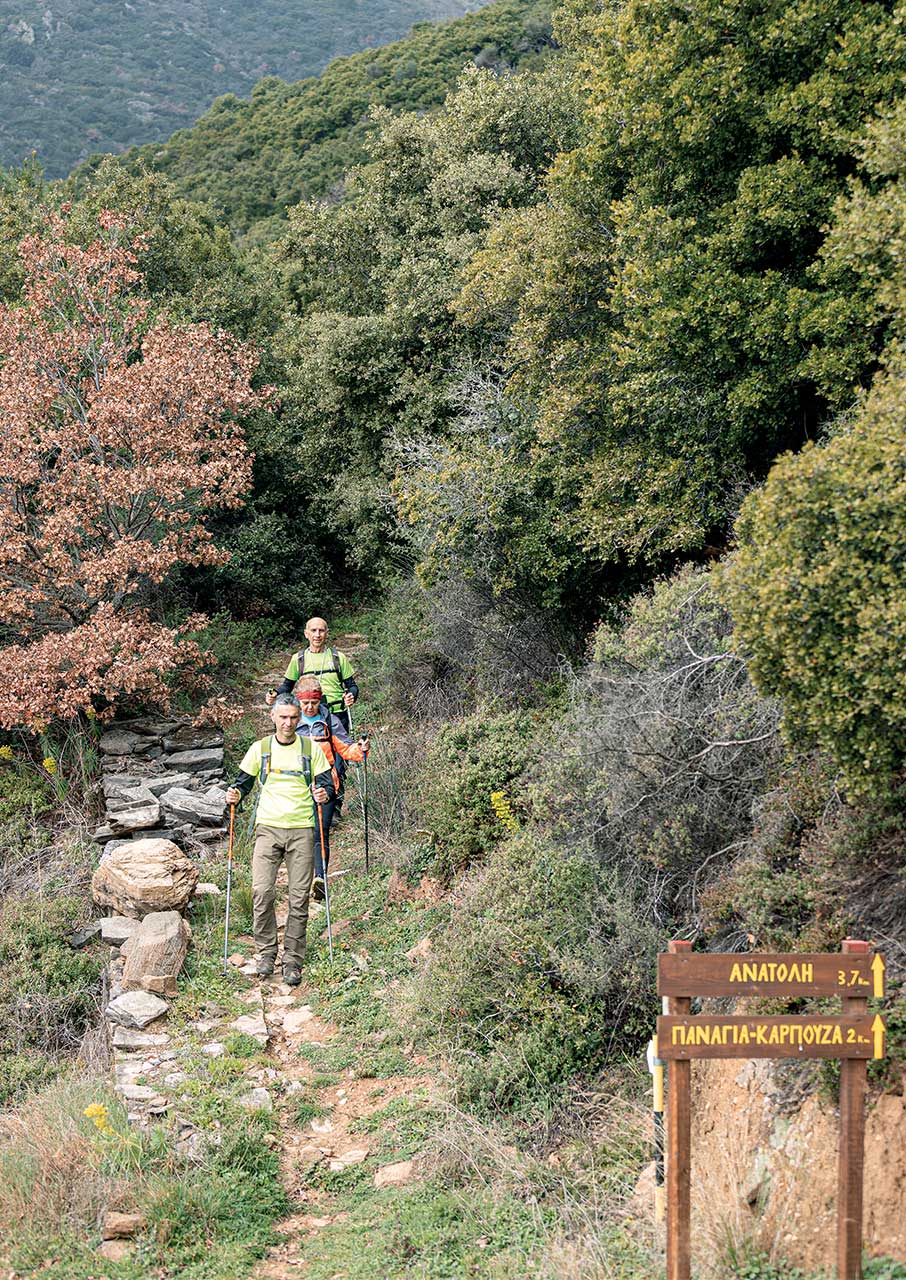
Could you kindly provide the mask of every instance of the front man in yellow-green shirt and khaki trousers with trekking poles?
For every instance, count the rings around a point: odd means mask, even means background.
[[[334,799],[328,758],[311,737],[296,732],[299,701],[279,694],[271,708],[274,733],[252,742],[239,764],[226,804],[238,804],[261,783],[255,814],[252,854],[252,918],[257,974],[269,978],[276,963],[274,886],[280,863],[287,864],[289,908],[283,931],[283,980],[290,987],[302,979],[308,896],[315,874],[315,805]],[[322,874],[322,872],[320,872]]]

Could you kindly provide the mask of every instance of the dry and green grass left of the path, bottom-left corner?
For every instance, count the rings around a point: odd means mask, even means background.
[[[274,1121],[224,1106],[210,1088],[205,1097],[216,1103],[216,1126],[192,1164],[165,1129],[129,1129],[122,1103],[99,1083],[65,1080],[32,1097],[0,1156],[0,1236],[14,1274],[96,1280],[97,1222],[107,1207],[147,1220],[133,1257],[104,1263],[109,1280],[246,1274],[288,1207],[267,1142]],[[90,1103],[106,1107],[106,1132],[84,1116]]]

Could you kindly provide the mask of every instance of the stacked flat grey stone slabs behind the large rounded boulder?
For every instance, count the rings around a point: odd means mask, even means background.
[[[99,744],[105,820],[93,833],[109,855],[157,837],[203,849],[225,835],[224,737],[187,721],[111,724]]]

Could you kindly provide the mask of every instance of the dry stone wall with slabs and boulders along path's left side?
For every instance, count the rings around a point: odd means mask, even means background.
[[[198,883],[196,861],[226,835],[223,733],[132,719],[111,724],[99,745],[104,820],[92,833],[92,896],[111,913],[100,923],[111,948],[105,1018],[115,1085],[131,1120],[147,1123],[169,1111],[180,1078],[166,1014],[192,937],[184,913],[196,896],[219,893]]]

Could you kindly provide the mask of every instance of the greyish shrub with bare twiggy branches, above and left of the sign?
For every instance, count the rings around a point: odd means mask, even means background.
[[[560,776],[545,783],[564,831],[635,881],[664,923],[697,913],[779,759],[778,709],[756,694],[731,636],[701,570],[636,596],[622,625],[595,637]]]

